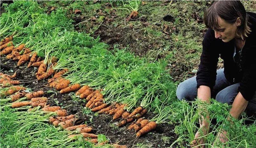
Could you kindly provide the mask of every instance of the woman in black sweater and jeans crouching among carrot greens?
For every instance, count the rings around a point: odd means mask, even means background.
[[[215,98],[232,105],[230,115],[236,119],[244,110],[252,116],[256,112],[256,14],[246,12],[240,1],[215,1],[204,12],[204,23],[208,30],[197,76],[180,83],[178,99],[210,103]],[[219,57],[224,69],[217,70]],[[209,127],[206,115],[199,119],[204,135]],[[219,133],[222,143],[228,140],[226,134]],[[204,144],[201,136],[197,131],[191,147]]]

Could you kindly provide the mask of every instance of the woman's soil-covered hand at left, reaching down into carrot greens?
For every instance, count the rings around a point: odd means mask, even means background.
[[[195,148],[203,148],[205,141],[204,141],[204,136],[207,135],[208,133],[208,127],[202,126],[195,135],[195,138],[193,141],[190,142],[190,146],[191,147],[195,147]]]

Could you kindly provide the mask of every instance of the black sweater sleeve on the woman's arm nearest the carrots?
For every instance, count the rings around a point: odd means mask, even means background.
[[[213,30],[208,29],[204,36],[203,51],[200,58],[199,69],[196,74],[197,88],[199,88],[200,85],[205,85],[212,89],[215,85],[217,63],[220,57],[216,45]]]

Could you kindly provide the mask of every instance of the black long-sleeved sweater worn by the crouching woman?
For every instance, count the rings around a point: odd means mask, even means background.
[[[214,30],[207,30],[196,76],[197,88],[200,85],[213,88],[216,81],[218,58],[220,57],[224,62],[226,79],[231,84],[240,83],[239,92],[246,100],[252,99],[256,91],[256,13],[247,12],[247,15],[252,32],[246,38],[239,57],[239,64],[236,64],[233,59],[235,39],[225,43],[221,39],[215,38]]]

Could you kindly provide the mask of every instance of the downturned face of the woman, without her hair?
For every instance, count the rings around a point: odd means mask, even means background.
[[[236,20],[235,23],[230,24],[224,19],[218,17],[219,28],[214,28],[215,38],[221,39],[223,42],[229,42],[236,37],[237,27],[241,25],[240,18]]]

